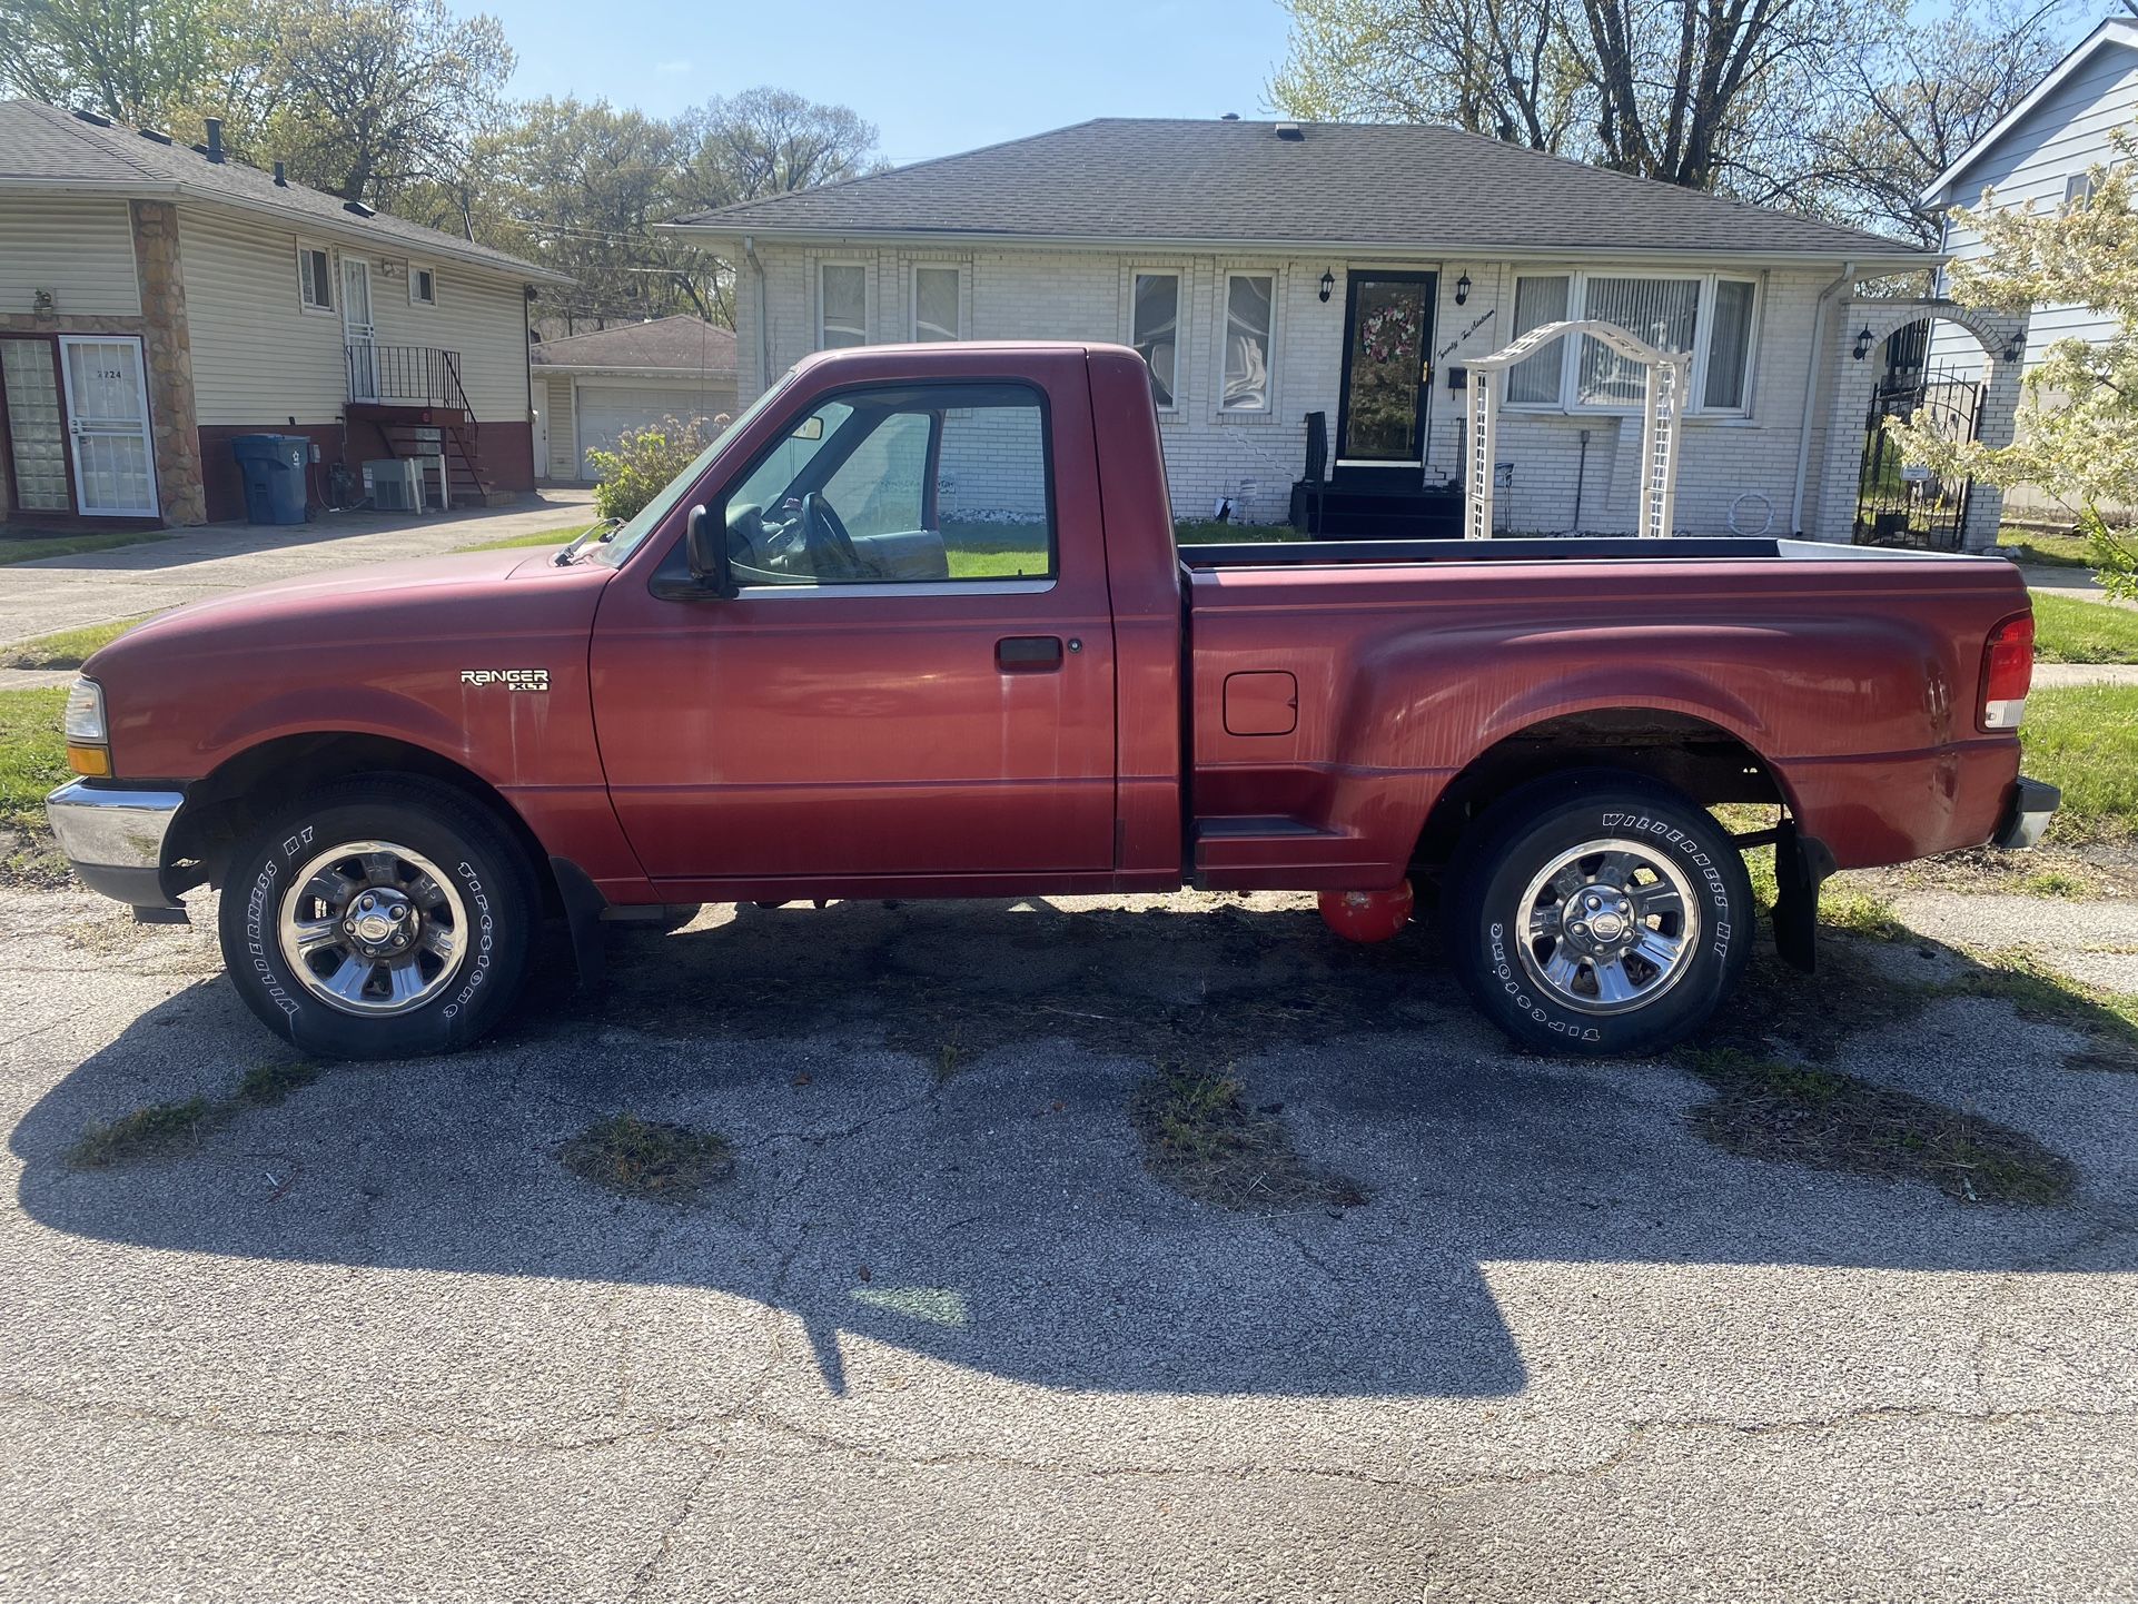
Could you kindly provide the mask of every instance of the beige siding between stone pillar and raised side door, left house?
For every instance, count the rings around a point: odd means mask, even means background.
[[[331,246],[331,240],[308,240]],[[297,235],[274,222],[182,205],[177,250],[201,423],[334,423],[348,368],[342,312],[297,299]],[[336,265],[336,297],[340,267]],[[374,284],[372,297],[378,297]]]

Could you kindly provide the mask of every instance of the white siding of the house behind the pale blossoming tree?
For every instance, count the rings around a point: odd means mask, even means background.
[[[2063,205],[2072,178],[2117,160],[2110,130],[2138,124],[2138,49],[2114,41],[2102,45],[2042,105],[2020,118],[1971,163],[1946,197],[1952,205],[1978,207],[1982,190],[1993,190],[1999,207],[2033,203],[2035,212]],[[1961,261],[1982,255],[1982,235],[1950,222],[1946,248]],[[2057,340],[2106,340],[2114,319],[2082,306],[2038,306],[2027,331],[2027,366],[2042,359]],[[1933,361],[1973,370],[1980,349],[1965,329],[1939,325]]]

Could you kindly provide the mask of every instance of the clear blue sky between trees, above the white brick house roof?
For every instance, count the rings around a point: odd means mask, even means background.
[[[894,163],[1084,118],[1257,115],[1285,53],[1276,0],[475,0],[515,96],[667,115],[753,83],[851,105]]]

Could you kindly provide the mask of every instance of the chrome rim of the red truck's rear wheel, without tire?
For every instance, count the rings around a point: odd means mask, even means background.
[[[1700,905],[1638,840],[1569,847],[1522,894],[1522,969],[1580,1014],[1625,1014],[1676,986],[1700,950]]]

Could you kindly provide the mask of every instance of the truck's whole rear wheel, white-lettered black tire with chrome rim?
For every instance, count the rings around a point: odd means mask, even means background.
[[[1541,1052],[1655,1052],[1728,1001],[1751,956],[1730,834],[1666,785],[1582,770],[1524,785],[1460,847],[1443,907],[1477,1007]]]

